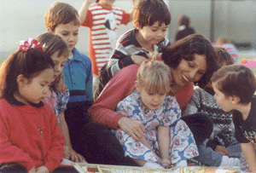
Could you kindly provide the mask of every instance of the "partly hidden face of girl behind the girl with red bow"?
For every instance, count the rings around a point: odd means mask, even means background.
[[[55,63],[54,79],[61,75],[63,67],[64,67],[65,63],[67,62],[67,56],[61,55],[60,57],[58,57],[57,56],[58,54],[59,54],[59,51],[56,51],[53,55],[51,55],[51,59]]]

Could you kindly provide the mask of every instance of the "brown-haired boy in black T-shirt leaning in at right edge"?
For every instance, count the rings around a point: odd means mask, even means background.
[[[223,66],[212,75],[214,99],[224,112],[233,113],[236,140],[241,143],[244,162],[241,170],[256,172],[256,78],[242,65]],[[241,158],[242,159],[242,158]],[[249,168],[249,170],[248,170]]]

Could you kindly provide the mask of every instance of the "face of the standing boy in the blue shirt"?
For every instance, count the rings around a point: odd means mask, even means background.
[[[73,22],[59,24],[55,27],[54,33],[67,43],[69,52],[72,52],[79,41],[79,26],[75,26]]]

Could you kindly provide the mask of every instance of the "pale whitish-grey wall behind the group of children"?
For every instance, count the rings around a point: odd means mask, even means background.
[[[0,56],[3,52],[12,52],[17,49],[17,42],[27,37],[37,37],[46,32],[44,13],[54,0],[0,0]],[[65,0],[74,8],[80,9],[84,0]],[[177,18],[182,14],[191,17],[191,26],[195,32],[210,38],[210,0],[166,0],[170,7],[172,22],[167,37],[172,41],[177,32]],[[129,11],[131,0],[116,0],[114,3],[121,9]],[[253,13],[255,5],[252,0],[227,1],[215,0],[215,40],[219,36],[228,36],[235,42],[251,42],[253,32]],[[132,22],[127,26],[119,26],[118,33],[133,28]],[[88,45],[88,28],[81,26],[77,48],[86,53]]]

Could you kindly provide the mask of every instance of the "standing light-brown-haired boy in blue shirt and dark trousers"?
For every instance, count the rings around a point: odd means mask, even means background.
[[[79,12],[68,3],[56,2],[44,14],[44,20],[47,31],[60,36],[68,46],[69,57],[63,74],[70,97],[64,113],[71,144],[79,152],[79,134],[89,121],[87,110],[93,102],[90,58],[74,48],[79,39]]]

